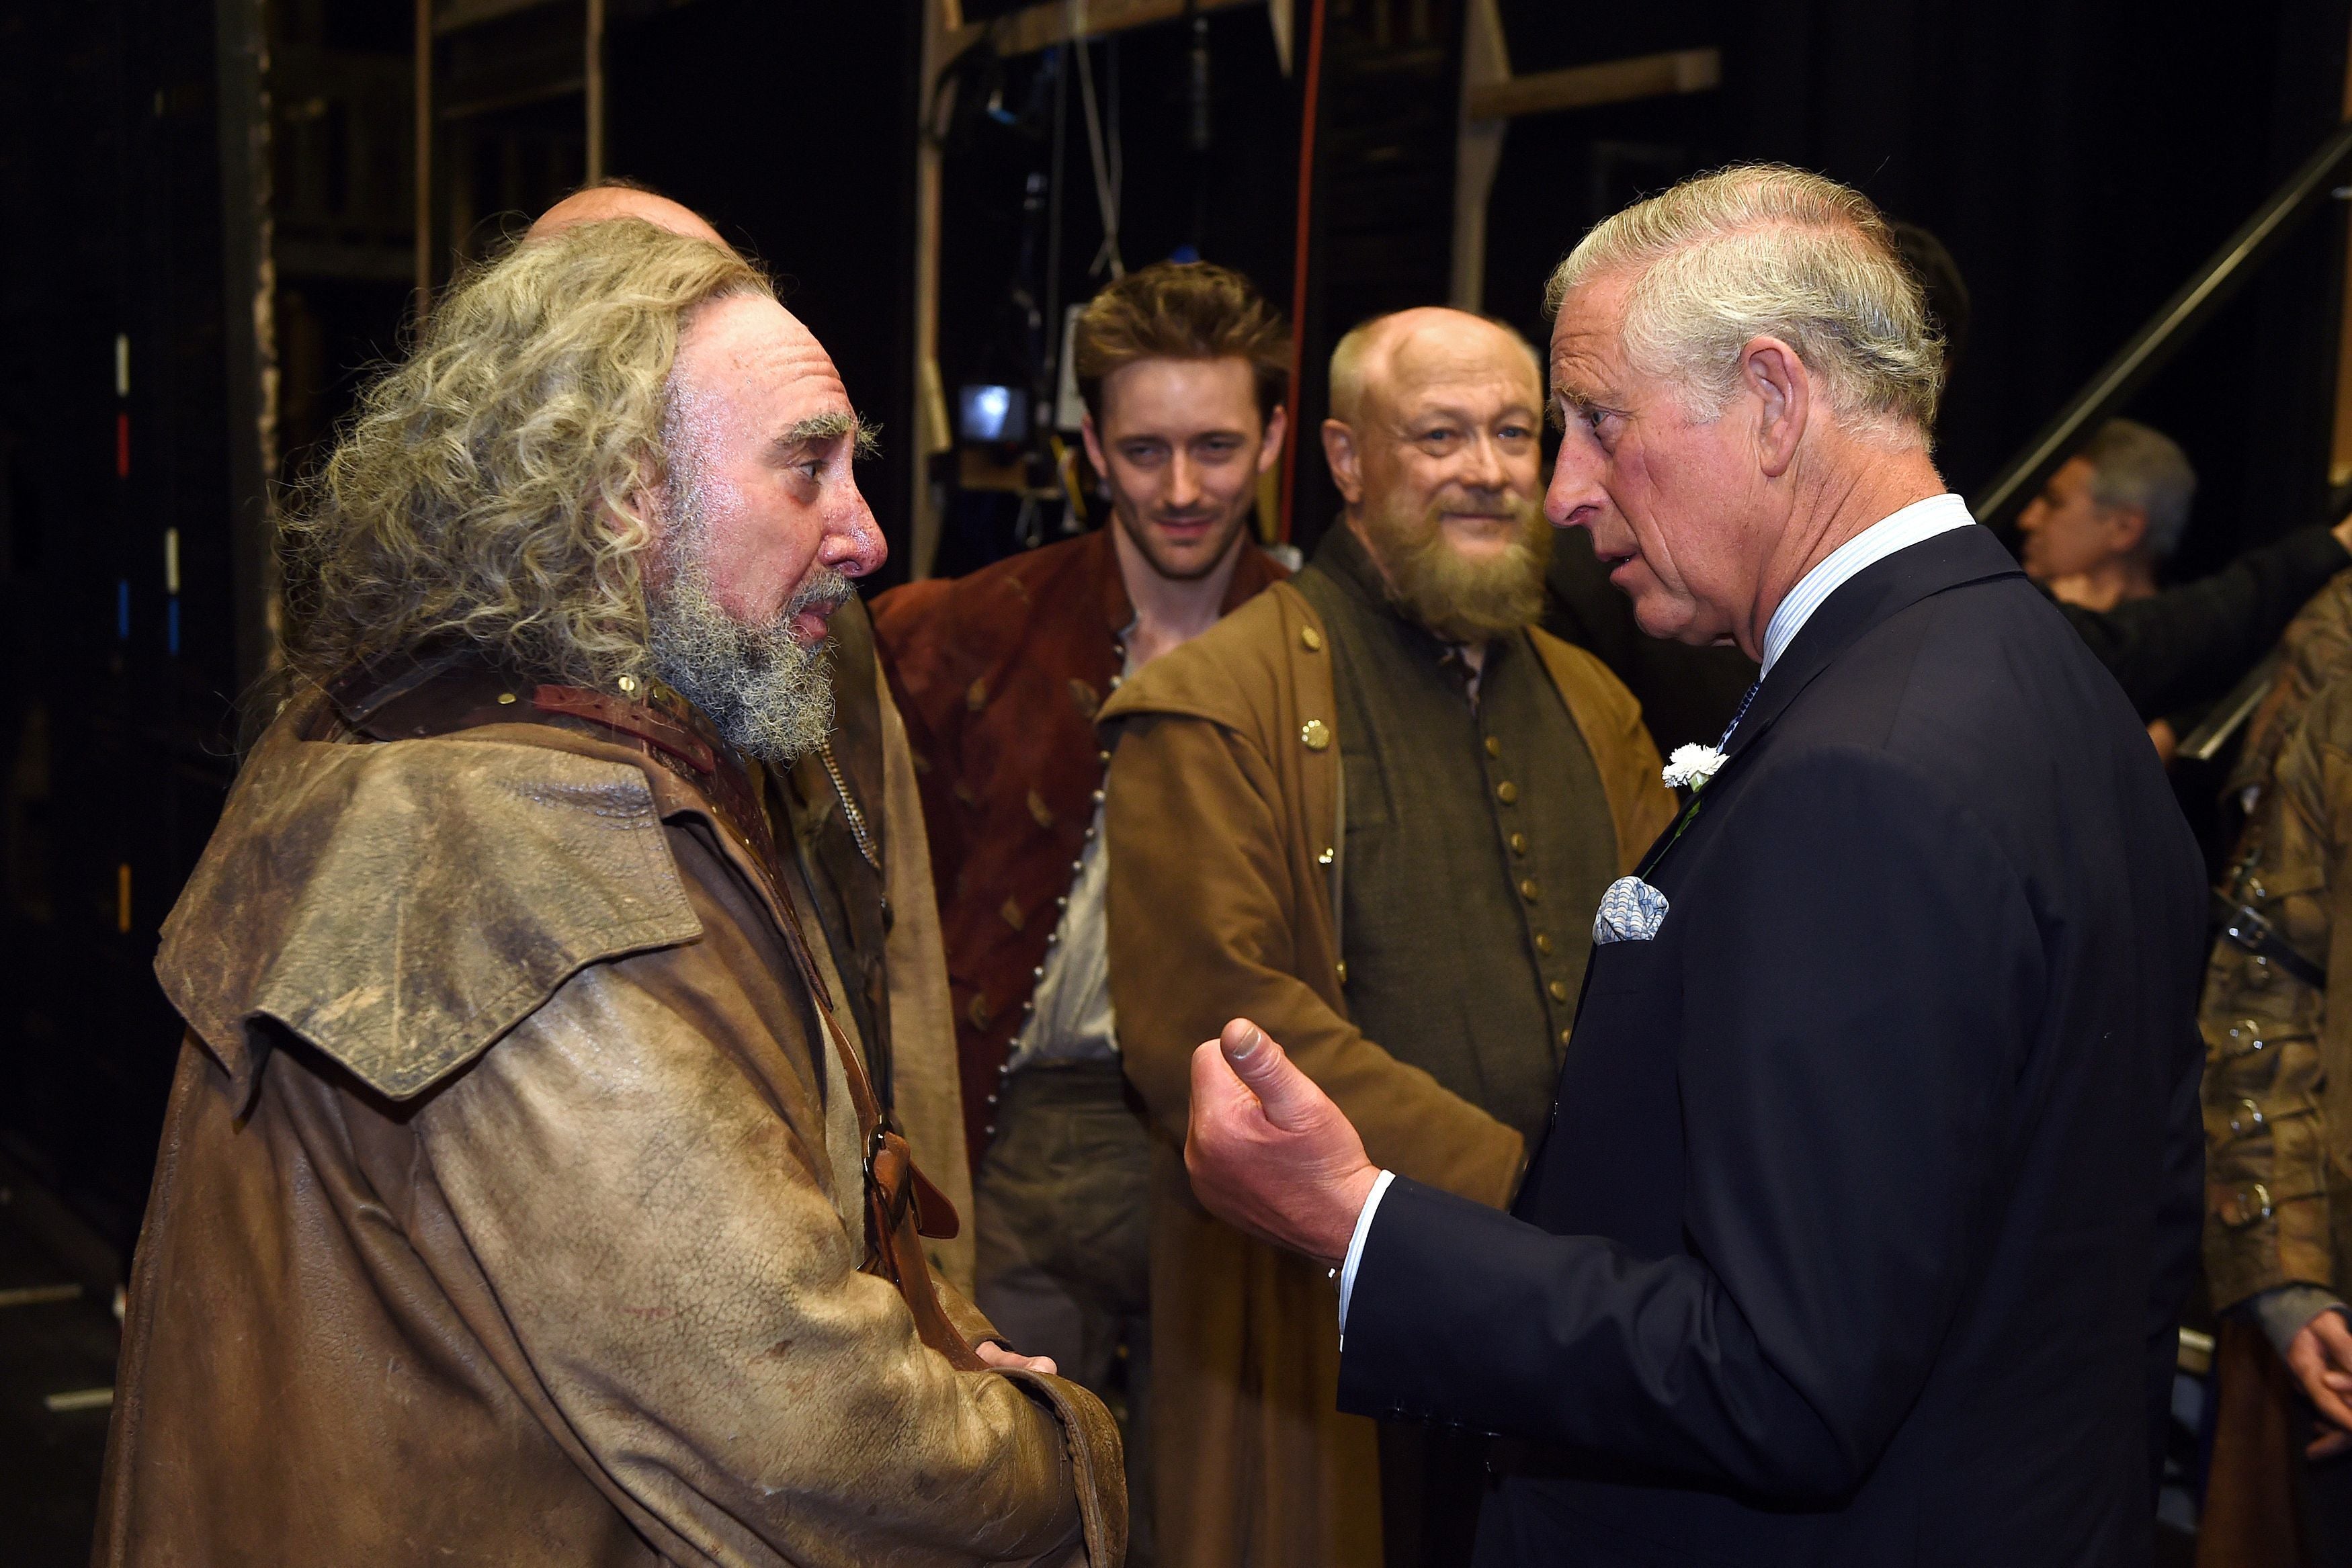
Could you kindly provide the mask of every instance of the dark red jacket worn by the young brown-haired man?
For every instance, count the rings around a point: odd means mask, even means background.
[[[1225,611],[1284,569],[1251,543]],[[1110,752],[1094,715],[1120,684],[1136,618],[1110,531],[875,599],[875,637],[922,788],[948,943],[971,1168],[997,1079],[1094,825]]]

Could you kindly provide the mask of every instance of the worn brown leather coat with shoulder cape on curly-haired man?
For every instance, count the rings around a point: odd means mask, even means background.
[[[642,750],[358,743],[306,698],[158,973],[188,1044],[99,1563],[1082,1556],[1108,1418],[955,1371],[858,1272],[840,1058]]]

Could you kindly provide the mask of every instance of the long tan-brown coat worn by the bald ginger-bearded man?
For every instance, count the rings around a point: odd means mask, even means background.
[[[1642,710],[1581,649],[1534,635],[1635,858],[1672,818]],[[1381,1166],[1505,1204],[1526,1150],[1348,1020],[1345,865],[1329,637],[1275,585],[1105,708],[1110,987],[1155,1124],[1152,1441],[1164,1568],[1378,1568],[1376,1429],[1341,1415],[1324,1269],[1209,1218],[1183,1173],[1192,1048],[1249,1016]],[[1327,853],[1329,851],[1329,853]],[[1442,976],[1432,976],[1442,985]]]

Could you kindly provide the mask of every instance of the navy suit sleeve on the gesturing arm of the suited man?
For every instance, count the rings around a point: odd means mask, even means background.
[[[1684,992],[1679,1037],[1609,1046],[1677,1053],[1689,1253],[1399,1180],[1343,1408],[1785,1500],[1849,1495],[1893,1436],[1978,1267],[2042,945],[1994,842],[1875,752],[1797,757],[1738,806],[1668,914],[1689,922],[1658,980]]]

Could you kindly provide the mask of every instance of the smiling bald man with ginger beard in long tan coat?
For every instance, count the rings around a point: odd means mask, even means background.
[[[1155,1126],[1160,1561],[1442,1561],[1468,1505],[1338,1415],[1324,1269],[1192,1204],[1192,1046],[1265,1027],[1381,1147],[1501,1206],[1552,1103],[1602,891],[1672,813],[1642,712],[1531,625],[1543,386],[1508,327],[1406,310],[1331,355],[1341,527],[1164,654],[1115,736],[1110,990]],[[1456,1535],[1458,1533],[1458,1535]]]

